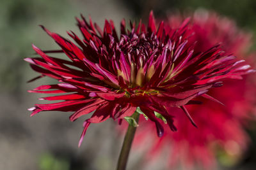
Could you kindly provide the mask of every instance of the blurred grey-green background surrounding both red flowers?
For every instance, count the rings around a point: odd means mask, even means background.
[[[77,148],[83,131],[83,118],[71,123],[69,113],[43,112],[29,118],[27,108],[38,103],[40,95],[27,90],[54,80],[44,78],[26,83],[38,75],[25,57],[34,55],[31,43],[42,49],[58,46],[38,25],[66,36],[72,30],[78,35],[75,16],[83,13],[94,22],[104,24],[112,19],[119,28],[122,18],[147,21],[154,10],[156,17],[198,8],[215,10],[237,21],[237,25],[256,33],[255,0],[1,0],[0,1],[0,169],[6,170],[111,170],[115,169],[124,134],[113,131],[112,120],[91,125],[84,143]],[[118,29],[117,28],[117,29]],[[254,45],[255,46],[255,45]],[[256,128],[248,130],[256,142]],[[120,138],[121,137],[121,138]],[[132,151],[127,169],[164,170],[162,164],[140,167],[141,152]],[[253,169],[256,148],[251,145],[246,156],[235,166],[220,169]]]

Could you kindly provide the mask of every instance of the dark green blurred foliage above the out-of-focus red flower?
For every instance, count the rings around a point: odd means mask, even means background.
[[[206,8],[214,10],[221,15],[235,18],[241,26],[256,29],[256,1],[254,0],[123,0],[123,2],[138,17],[154,10],[156,15],[166,15],[166,11],[186,11]]]

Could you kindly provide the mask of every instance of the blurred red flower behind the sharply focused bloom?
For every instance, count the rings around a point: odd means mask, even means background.
[[[180,15],[170,16],[165,29],[173,29],[172,26],[178,28],[182,20]],[[227,53],[234,53],[241,60],[250,59],[253,64],[252,57],[255,55],[248,53],[252,46],[252,35],[239,30],[233,20],[207,11],[196,12],[188,27],[194,32],[193,41],[197,41],[194,52],[209,49],[221,42]],[[251,75],[245,76],[243,80],[223,82],[223,87],[211,89],[208,94],[220,99],[225,106],[202,97],[202,104],[188,106],[198,129],[191,127],[182,111],[168,108],[178,132],[166,130],[162,138],[156,138],[151,133],[153,125],[141,119],[135,145],[145,145],[145,141],[150,138],[150,142],[147,142],[150,143],[147,159],[156,159],[159,153],[168,151],[169,167],[193,169],[201,165],[204,169],[211,169],[216,166],[215,156],[220,149],[236,161],[250,141],[244,128],[252,118],[250,115],[255,107],[256,85],[252,83]]]

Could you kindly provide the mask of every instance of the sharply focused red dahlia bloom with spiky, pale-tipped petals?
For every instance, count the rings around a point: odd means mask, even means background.
[[[158,136],[163,136],[164,128],[155,111],[173,131],[176,128],[169,111],[172,107],[184,110],[195,125],[184,105],[196,103],[193,99],[197,96],[211,98],[205,93],[212,87],[220,87],[220,79],[241,78],[252,70],[223,52],[220,45],[194,52],[195,41],[188,21],[182,22],[178,29],[167,31],[164,22],[156,28],[150,13],[147,28],[141,22],[137,27],[131,23],[129,31],[123,20],[118,36],[112,20],[105,21],[102,31],[91,19],[88,23],[82,16],[82,20],[77,18],[77,25],[84,38],[68,32],[77,45],[42,26],[61,50],[44,52],[33,45],[41,57],[25,60],[41,73],[38,78],[49,76],[61,83],[42,85],[29,92],[67,94],[41,98],[64,101],[35,104],[29,109],[33,111],[31,115],[40,111],[74,111],[70,116],[74,121],[94,111],[84,122],[79,146],[91,123],[110,117],[121,121],[138,107],[156,124]],[[69,60],[50,57],[49,52],[65,53]]]

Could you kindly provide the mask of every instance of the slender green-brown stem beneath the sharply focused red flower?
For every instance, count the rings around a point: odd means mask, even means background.
[[[136,122],[138,123],[140,113],[135,111],[131,117],[134,118],[136,120]],[[125,170],[125,168],[126,168],[127,160],[128,160],[128,157],[129,157],[129,152],[131,150],[132,141],[133,141],[136,129],[137,129],[137,127],[134,127],[133,125],[129,124],[127,132],[125,134],[122,150],[121,150],[120,155],[119,155],[116,170]]]

